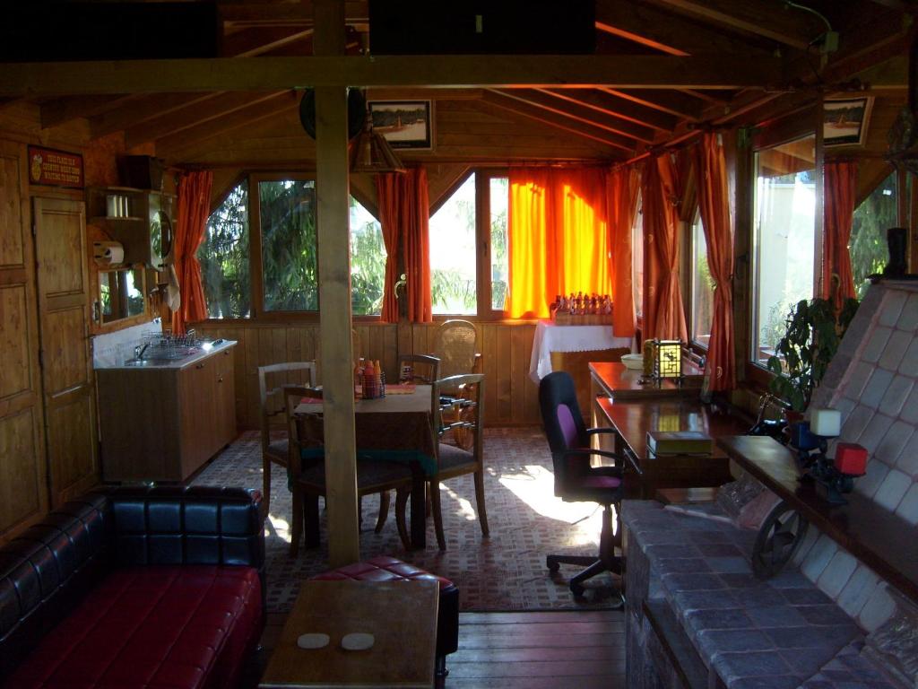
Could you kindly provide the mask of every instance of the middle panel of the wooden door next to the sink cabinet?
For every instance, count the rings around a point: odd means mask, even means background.
[[[41,349],[44,353],[45,394],[56,395],[86,381],[89,368],[84,306],[52,311],[42,316]]]

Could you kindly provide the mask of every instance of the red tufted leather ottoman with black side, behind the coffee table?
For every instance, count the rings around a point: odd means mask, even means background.
[[[353,579],[358,582],[397,582],[426,580],[440,584],[440,610],[437,615],[437,665],[440,677],[448,674],[446,656],[459,648],[459,589],[446,577],[431,574],[400,559],[381,556],[354,562],[312,577],[313,580]]]

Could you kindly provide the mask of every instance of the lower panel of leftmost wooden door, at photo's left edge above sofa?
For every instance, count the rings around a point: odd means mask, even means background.
[[[44,512],[37,422],[31,407],[0,418],[0,533]]]

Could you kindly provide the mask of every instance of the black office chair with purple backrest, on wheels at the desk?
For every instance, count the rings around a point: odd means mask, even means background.
[[[612,428],[587,428],[577,404],[574,379],[565,371],[555,371],[539,385],[539,405],[548,445],[552,448],[554,465],[554,494],[568,503],[593,502],[603,506],[602,532],[599,537],[599,557],[549,555],[545,564],[557,571],[562,564],[588,565],[570,581],[571,591],[583,595],[583,582],[604,571],[621,575],[621,558],[615,555],[616,538],[612,529],[612,509],[616,512],[623,496],[621,469],[623,462],[615,453],[590,449],[590,435],[615,433]],[[614,467],[591,467],[590,457],[608,457]],[[621,534],[621,528],[617,531]]]

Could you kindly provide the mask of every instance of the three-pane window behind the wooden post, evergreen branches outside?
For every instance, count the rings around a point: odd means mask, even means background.
[[[197,252],[210,318],[319,311],[316,186],[312,180],[259,180],[258,217],[249,222],[249,181],[236,186],[207,220]],[[386,248],[373,215],[351,198],[351,285],[355,316],[382,311]],[[260,240],[261,299],[251,279],[250,232]],[[256,244],[257,246],[258,244]]]

